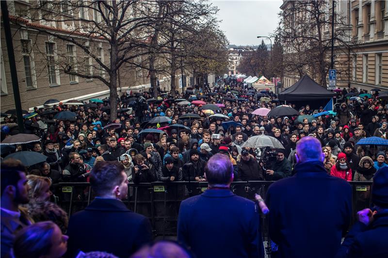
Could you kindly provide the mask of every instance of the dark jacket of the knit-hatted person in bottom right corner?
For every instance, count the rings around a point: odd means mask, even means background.
[[[388,211],[377,212],[371,225],[361,222],[351,228],[336,258],[388,257]]]

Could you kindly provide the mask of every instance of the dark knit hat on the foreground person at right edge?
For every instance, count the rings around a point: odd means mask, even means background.
[[[380,168],[373,177],[372,203],[388,208],[388,167]]]

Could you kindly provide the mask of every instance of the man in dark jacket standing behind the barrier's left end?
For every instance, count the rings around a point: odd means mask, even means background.
[[[70,163],[65,167],[63,171],[64,182],[85,182],[86,167],[81,164],[80,154],[77,152],[71,152],[69,154]]]

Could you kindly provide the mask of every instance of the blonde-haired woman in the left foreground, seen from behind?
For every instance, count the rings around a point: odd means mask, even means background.
[[[35,222],[50,220],[57,224],[62,232],[66,232],[69,222],[66,212],[55,203],[50,202],[51,180],[36,175],[28,175],[27,180],[30,185],[30,202],[25,205],[25,208],[28,210],[29,216]]]

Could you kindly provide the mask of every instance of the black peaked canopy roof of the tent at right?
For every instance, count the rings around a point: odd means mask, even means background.
[[[279,93],[279,100],[299,101],[329,99],[336,93],[323,88],[309,76],[305,75],[287,90]]]

